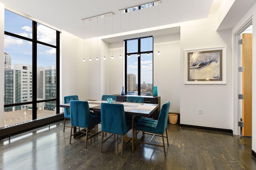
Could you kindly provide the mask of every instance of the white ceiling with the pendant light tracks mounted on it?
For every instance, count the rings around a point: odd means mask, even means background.
[[[134,12],[120,14],[119,10],[153,2],[150,0],[0,0],[7,9],[22,12],[42,24],[81,38],[118,34],[130,34],[132,30],[148,27],[159,29],[161,25],[207,18],[213,2],[220,0],[161,0],[153,6]],[[105,19],[83,22],[82,19],[108,12],[115,15]],[[85,28],[84,28],[85,27]],[[148,30],[147,30],[148,29]],[[84,31],[85,30],[85,31]],[[176,30],[176,29],[175,29]],[[142,31],[142,32],[144,32]],[[165,31],[175,32],[165,29]],[[138,31],[138,33],[141,31]],[[157,31],[154,31],[157,33]],[[147,35],[146,35],[147,36]]]

